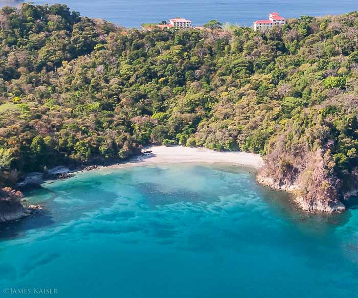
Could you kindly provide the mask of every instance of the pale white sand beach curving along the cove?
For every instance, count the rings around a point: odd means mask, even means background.
[[[125,164],[109,166],[109,168],[176,163],[223,163],[256,169],[263,166],[260,155],[247,152],[219,152],[182,146],[151,146],[146,147],[144,151],[152,151],[152,153],[139,156]]]

